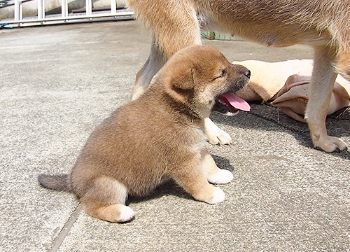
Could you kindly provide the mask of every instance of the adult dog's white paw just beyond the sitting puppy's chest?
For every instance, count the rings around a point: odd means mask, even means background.
[[[231,144],[232,139],[230,135],[216,126],[210,118],[204,119],[204,127],[210,144]]]

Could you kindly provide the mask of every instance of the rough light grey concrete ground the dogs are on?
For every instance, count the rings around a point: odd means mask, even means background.
[[[304,46],[205,41],[230,61],[311,58]],[[234,139],[209,146],[235,176],[226,200],[197,202],[173,183],[131,199],[136,218],[87,216],[73,195],[41,188],[130,98],[150,38],[135,21],[0,30],[0,251],[350,251],[349,152],[311,146],[307,125],[267,105],[212,118]],[[350,144],[349,114],[327,120]]]

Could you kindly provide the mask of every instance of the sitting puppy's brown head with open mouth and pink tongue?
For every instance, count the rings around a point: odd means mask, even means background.
[[[234,94],[249,78],[246,67],[230,64],[221,52],[204,45],[176,52],[160,75],[167,94],[200,118],[212,110],[231,115],[239,109],[249,111],[250,106]]]

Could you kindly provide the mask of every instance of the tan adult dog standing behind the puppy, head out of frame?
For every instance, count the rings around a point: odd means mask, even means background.
[[[151,54],[137,73],[133,99],[177,50],[202,43],[201,27],[271,46],[311,45],[314,71],[305,119],[312,141],[327,152],[347,148],[341,139],[328,136],[325,117],[337,73],[350,80],[349,0],[128,0],[128,4],[153,34]],[[206,122],[212,144],[230,143],[228,134],[209,118]]]

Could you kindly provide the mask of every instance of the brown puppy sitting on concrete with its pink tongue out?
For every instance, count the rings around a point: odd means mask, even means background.
[[[208,183],[228,183],[207,151],[204,118],[211,110],[248,110],[233,93],[248,83],[250,71],[233,65],[218,50],[194,45],[177,52],[149,89],[121,106],[92,132],[70,174],[38,177],[45,188],[78,197],[83,209],[111,222],[130,221],[127,195],[146,195],[174,179],[196,200],[225,199]]]

